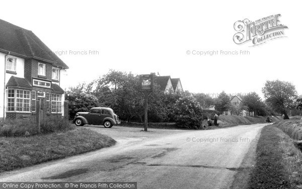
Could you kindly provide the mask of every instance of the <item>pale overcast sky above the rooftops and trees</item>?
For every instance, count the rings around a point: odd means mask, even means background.
[[[292,82],[301,94],[299,4],[245,2],[5,1],[0,19],[33,31],[52,51],[65,53],[59,57],[70,69],[63,88],[115,69],[180,78],[184,90],[194,93],[261,94],[266,80],[279,79]],[[234,43],[236,21],[275,14],[288,27],[287,37],[254,47]],[[194,50],[219,54],[194,55]],[[220,55],[220,50],[250,54]]]

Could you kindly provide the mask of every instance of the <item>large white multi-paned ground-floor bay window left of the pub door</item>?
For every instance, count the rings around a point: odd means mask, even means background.
[[[14,90],[14,93],[10,93],[11,90]],[[14,96],[10,97],[10,94],[14,94]],[[9,89],[7,99],[8,112],[31,112],[31,91],[22,89]],[[13,102],[9,102],[9,99],[14,100]],[[14,106],[9,106],[9,103],[13,103]],[[13,108],[13,110],[9,108]]]

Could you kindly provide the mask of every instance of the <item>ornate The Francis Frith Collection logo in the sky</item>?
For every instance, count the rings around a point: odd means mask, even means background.
[[[287,26],[280,24],[280,20],[278,20],[280,16],[280,14],[270,15],[254,22],[249,19],[235,22],[234,29],[238,33],[233,37],[234,42],[243,44],[252,41],[252,46],[256,46],[272,39],[286,37],[284,29]]]

